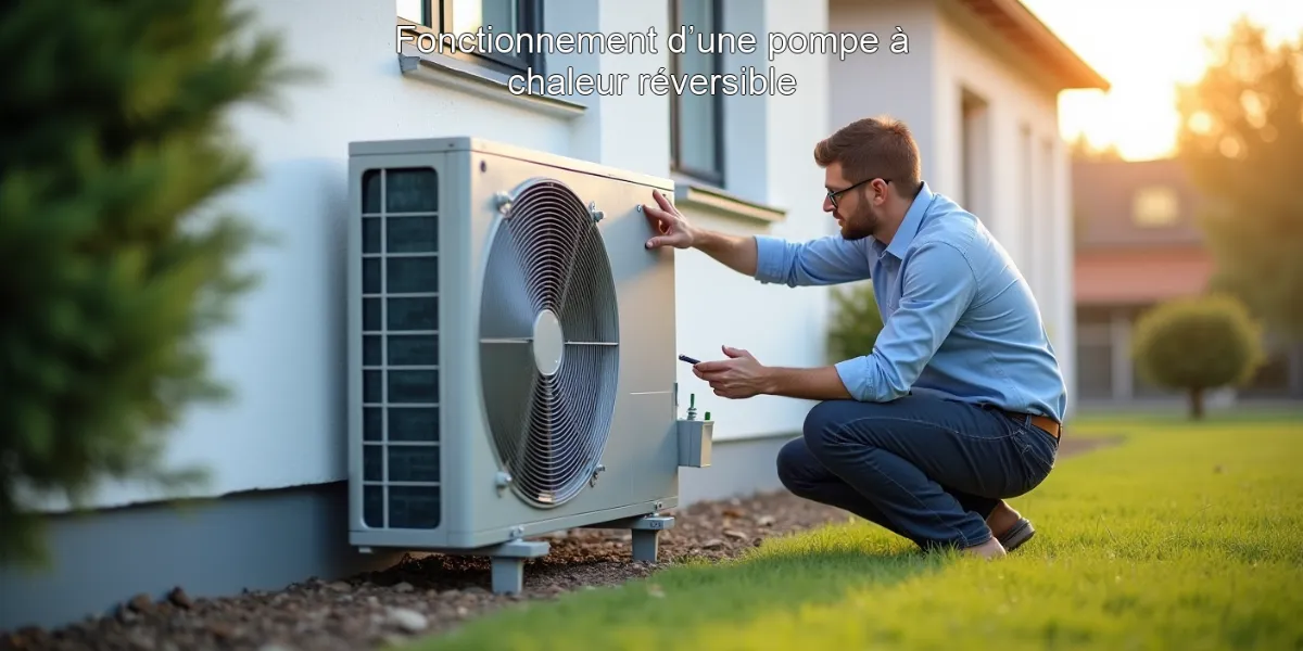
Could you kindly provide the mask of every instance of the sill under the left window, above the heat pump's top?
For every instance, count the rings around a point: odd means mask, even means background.
[[[507,85],[508,76],[481,69],[473,64],[459,61],[451,56],[425,53],[408,44],[399,53],[399,70],[404,77],[418,78],[439,86],[499,102],[508,105],[528,108],[554,117],[575,118],[584,115],[584,104],[543,95],[516,95]]]

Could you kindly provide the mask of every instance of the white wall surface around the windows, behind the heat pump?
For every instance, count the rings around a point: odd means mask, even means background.
[[[821,31],[820,3],[791,7],[730,0],[730,21],[756,31],[769,25]],[[579,117],[552,117],[509,102],[486,99],[437,81],[403,77],[395,55],[394,0],[245,0],[257,25],[274,30],[298,64],[322,78],[284,92],[284,111],[242,109],[232,116],[237,137],[255,152],[262,178],[228,206],[280,238],[250,264],[262,285],[240,303],[238,322],[211,342],[212,370],[235,389],[233,401],[195,410],[177,427],[173,464],[198,462],[212,482],[203,495],[341,480],[344,410],[344,232],[347,155],[351,141],[473,134],[644,173],[668,176],[668,98],[638,95],[571,98],[588,105]],[[795,4],[795,3],[792,3]],[[552,0],[549,31],[645,31],[667,34],[665,0]],[[754,59],[760,57],[760,61]],[[751,64],[760,65],[764,53]],[[637,78],[668,64],[655,55],[571,55],[549,62],[585,72],[625,72]],[[736,61],[737,65],[741,61]],[[820,59],[787,56],[774,65],[799,79],[794,96],[731,98],[731,190],[792,208],[775,232],[820,232],[821,174],[810,147],[823,135],[826,73]],[[734,68],[734,66],[731,66]],[[812,117],[813,116],[813,117]],[[650,197],[649,197],[650,199]],[[734,223],[721,228],[739,228]],[[680,255],[678,306],[684,353],[718,357],[721,344],[752,349],[762,361],[817,363],[822,358],[823,296],[762,288],[700,255]],[[687,372],[687,367],[683,370]],[[691,381],[689,381],[691,380]],[[697,381],[687,372],[684,384]],[[705,391],[701,391],[701,389]],[[684,388],[700,395],[709,387]],[[722,437],[795,431],[804,409],[795,401],[711,401]],[[164,495],[141,486],[106,486],[95,500],[109,506]],[[44,503],[50,509],[65,505]]]

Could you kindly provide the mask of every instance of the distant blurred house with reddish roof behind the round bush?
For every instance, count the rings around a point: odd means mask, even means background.
[[[1203,293],[1214,264],[1196,219],[1203,198],[1181,161],[1111,158],[1072,163],[1076,187],[1078,395],[1083,405],[1184,401],[1156,387],[1131,359],[1131,332],[1147,309]],[[1267,341],[1253,380],[1224,400],[1303,397],[1303,346]]]

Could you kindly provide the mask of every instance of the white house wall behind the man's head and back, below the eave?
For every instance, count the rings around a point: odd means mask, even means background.
[[[909,35],[909,53],[831,61],[831,126],[887,113],[919,142],[933,190],[973,211],[1027,277],[1075,405],[1067,150],[1057,92],[962,9],[941,3],[834,0],[838,30]],[[886,39],[883,39],[886,42]],[[980,108],[966,109],[968,105]]]

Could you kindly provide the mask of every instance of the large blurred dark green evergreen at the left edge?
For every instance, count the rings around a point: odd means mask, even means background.
[[[212,206],[253,177],[222,117],[301,73],[228,4],[0,9],[0,562],[48,560],[31,496],[205,477],[160,452],[225,396],[201,337],[254,280],[236,263],[258,233]]]

